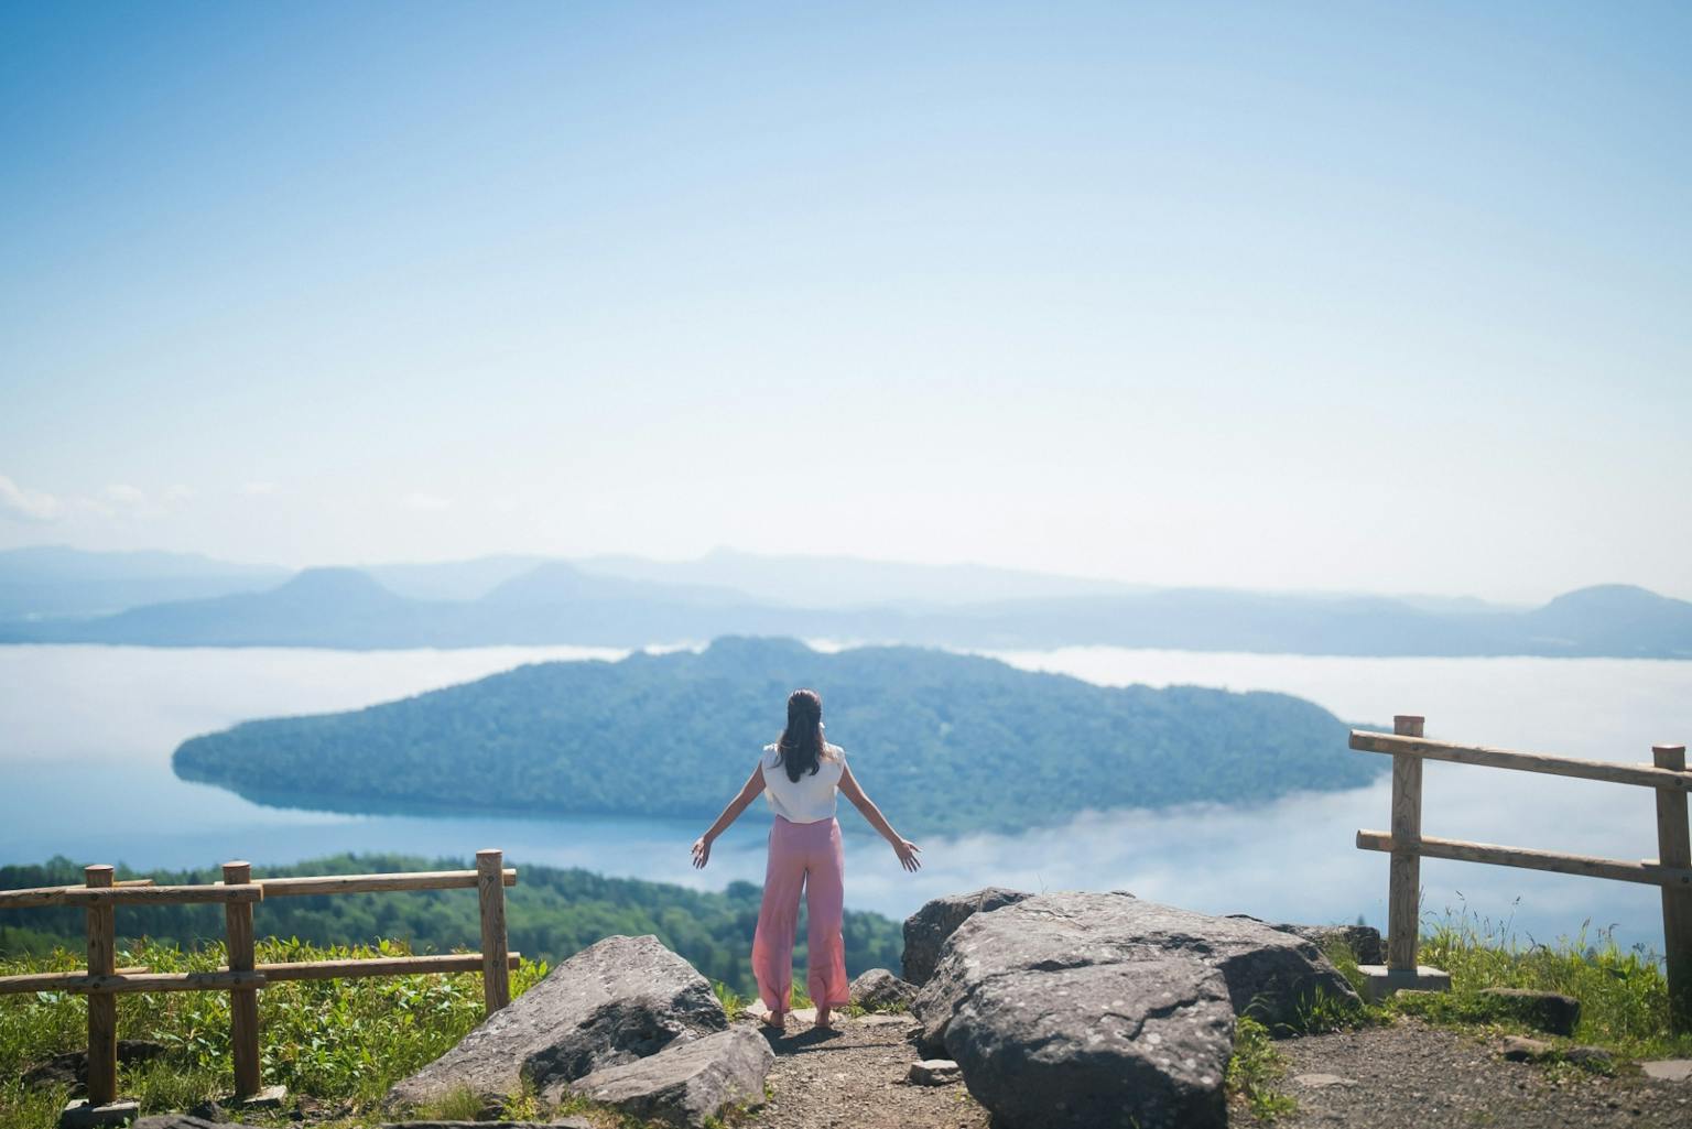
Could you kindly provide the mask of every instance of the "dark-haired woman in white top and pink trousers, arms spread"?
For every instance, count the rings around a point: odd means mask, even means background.
[[[770,797],[775,826],[770,828],[770,865],[763,878],[763,907],[751,943],[751,970],[758,995],[770,1009],[765,1026],[787,1026],[787,997],[794,983],[794,931],[799,922],[799,890],[805,890],[810,914],[810,968],[807,985],[817,1005],[817,1026],[829,1026],[829,1012],[846,1005],[846,943],[841,939],[844,867],[841,826],[834,819],[834,794],[844,792],[863,818],[893,845],[905,870],[917,870],[919,846],[898,838],[880,809],[870,802],[846,765],[846,753],[822,738],[822,699],[816,691],[794,691],[787,699],[787,730],[766,745],[758,767],[746,779],[717,821],[694,843],[694,867],[711,862],[711,845],[758,792]]]

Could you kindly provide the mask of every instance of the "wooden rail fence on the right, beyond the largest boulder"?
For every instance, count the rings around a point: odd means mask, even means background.
[[[1668,1024],[1675,1033],[1692,1033],[1692,834],[1687,826],[1685,745],[1653,745],[1650,765],[1621,765],[1606,760],[1575,760],[1543,753],[1518,753],[1480,745],[1448,745],[1423,740],[1423,718],[1393,719],[1393,733],[1352,730],[1350,745],[1367,753],[1393,757],[1393,829],[1359,831],[1357,846],[1393,855],[1387,887],[1386,977],[1413,978],[1420,926],[1421,858],[1524,867],[1553,873],[1589,875],[1614,882],[1662,887],[1663,956],[1668,967]],[[1560,851],[1438,840],[1421,834],[1421,762],[1448,760],[1460,765],[1545,772],[1580,780],[1631,784],[1656,792],[1656,858],[1592,858]]]

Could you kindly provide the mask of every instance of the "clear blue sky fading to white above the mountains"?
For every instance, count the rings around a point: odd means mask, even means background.
[[[1692,598],[1685,5],[0,12],[0,547]]]

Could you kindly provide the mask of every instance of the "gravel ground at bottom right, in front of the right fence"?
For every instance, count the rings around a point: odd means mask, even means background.
[[[1541,1129],[1552,1126],[1692,1126],[1692,1082],[1614,1078],[1574,1068],[1546,1070],[1499,1058],[1501,1039],[1480,1039],[1403,1019],[1391,1027],[1286,1039],[1281,1088],[1298,1100],[1284,1126],[1345,1129]],[[1298,1082],[1328,1075],[1343,1082]],[[1235,1126],[1257,1124],[1235,1102]]]

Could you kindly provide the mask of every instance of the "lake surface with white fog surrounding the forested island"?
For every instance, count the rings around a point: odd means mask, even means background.
[[[768,814],[760,804],[689,867],[706,821],[618,818],[345,816],[262,807],[178,780],[171,752],[196,733],[261,716],[352,709],[464,682],[525,662],[618,658],[582,647],[321,652],[130,647],[0,648],[0,862],[120,862],[203,867],[228,858],[288,863],[333,851],[469,856],[501,846],[518,865],[585,867],[619,877],[721,889],[761,882]],[[1428,736],[1648,763],[1653,741],[1692,736],[1692,662],[1618,658],[1343,658],[1151,652],[1110,647],[1005,652],[1025,669],[1103,686],[1193,684],[1308,697],[1345,721],[1428,718]],[[824,697],[827,687],[821,687]],[[780,724],[780,702],[772,724]],[[831,733],[851,748],[851,735]],[[1250,757],[1240,748],[1239,757]],[[1347,753],[1376,757],[1376,753]],[[1384,760],[1384,758],[1382,758]],[[467,758],[474,763],[474,758]],[[1078,755],[1078,770],[1085,757]],[[741,777],[724,772],[722,799]],[[875,780],[863,780],[875,796]],[[474,782],[467,780],[467,787]],[[1014,782],[1007,782],[1014,787]],[[1423,831],[1545,850],[1650,858],[1651,792],[1469,765],[1428,763]],[[898,812],[888,816],[895,826]],[[1211,912],[1277,921],[1386,917],[1384,855],[1359,851],[1359,828],[1389,824],[1387,784],[1254,807],[1086,812],[1014,836],[920,840],[924,870],[841,804],[848,906],[904,917],[937,894],[981,885],[1125,889]],[[1662,945],[1655,887],[1423,862],[1423,909],[1467,906],[1513,919],[1521,939],[1616,928],[1624,945]]]

